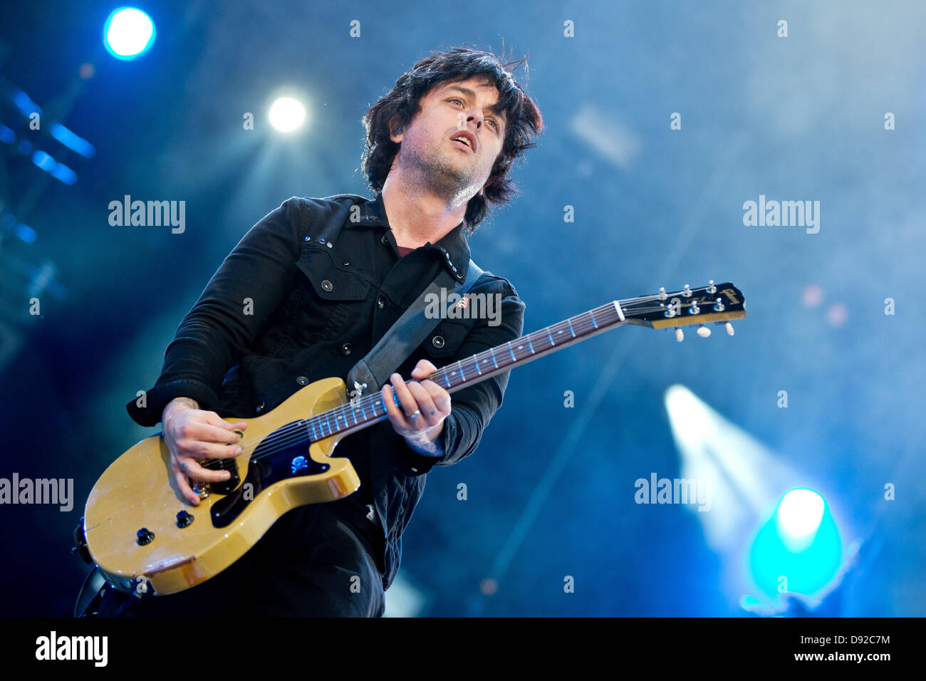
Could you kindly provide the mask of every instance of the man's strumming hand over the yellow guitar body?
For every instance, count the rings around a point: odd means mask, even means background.
[[[234,430],[244,431],[247,423],[229,423],[215,411],[199,409],[190,397],[176,397],[161,413],[164,442],[170,452],[170,470],[174,474],[181,494],[194,506],[199,495],[193,491],[187,478],[206,483],[219,483],[232,477],[228,471],[210,471],[199,459],[231,459],[242,452],[238,446],[241,436]]]

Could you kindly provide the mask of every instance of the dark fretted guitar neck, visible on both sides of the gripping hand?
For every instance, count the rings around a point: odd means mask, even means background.
[[[544,357],[626,323],[620,308],[622,302],[606,303],[466,359],[458,359],[427,378],[448,393],[455,393],[496,373],[510,371],[533,359]],[[311,439],[319,440],[339,433],[353,433],[385,418],[387,414],[382,396],[376,393],[355,398],[353,404],[348,403],[306,419],[306,425]]]

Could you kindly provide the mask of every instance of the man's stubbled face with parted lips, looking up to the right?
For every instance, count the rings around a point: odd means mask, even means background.
[[[421,98],[402,132],[392,135],[401,143],[393,167],[413,171],[457,205],[469,201],[485,185],[505,142],[505,112],[494,109],[497,102],[498,90],[482,77],[438,84]],[[455,139],[460,135],[469,137],[469,145]]]

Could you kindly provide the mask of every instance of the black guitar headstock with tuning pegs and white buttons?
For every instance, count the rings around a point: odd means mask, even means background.
[[[684,334],[679,327],[714,322],[725,324],[727,333],[732,335],[730,321],[746,316],[743,293],[729,282],[715,285],[713,279],[701,288],[690,288],[685,284],[682,291],[674,293],[667,293],[665,288],[661,288],[655,296],[618,302],[627,322],[652,329],[675,328],[675,337],[680,341]],[[710,329],[699,326],[697,334],[707,337]]]

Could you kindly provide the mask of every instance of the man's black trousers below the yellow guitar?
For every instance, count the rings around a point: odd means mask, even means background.
[[[100,617],[382,617],[385,593],[347,499],[285,513],[241,559],[176,594],[136,599],[106,587]]]

